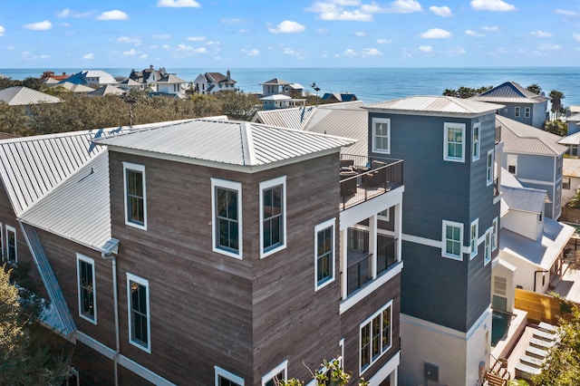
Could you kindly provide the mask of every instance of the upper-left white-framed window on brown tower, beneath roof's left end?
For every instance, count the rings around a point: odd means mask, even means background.
[[[145,166],[123,162],[125,224],[147,229]]]

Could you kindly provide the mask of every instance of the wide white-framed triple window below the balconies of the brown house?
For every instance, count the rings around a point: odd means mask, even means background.
[[[360,325],[360,373],[381,358],[392,345],[392,301]]]

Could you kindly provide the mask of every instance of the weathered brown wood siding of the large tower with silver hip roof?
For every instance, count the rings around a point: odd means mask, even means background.
[[[122,161],[145,165],[147,230],[124,224]],[[110,162],[122,354],[177,383],[212,384],[218,365],[259,385],[280,362],[307,378],[303,360],[339,353],[338,280],[314,292],[314,226],[338,228],[337,154],[255,174],[113,151]],[[259,182],[281,176],[287,247],[260,259]],[[243,184],[243,260],[211,250],[210,178]],[[151,353],[129,343],[127,273],[149,280]]]

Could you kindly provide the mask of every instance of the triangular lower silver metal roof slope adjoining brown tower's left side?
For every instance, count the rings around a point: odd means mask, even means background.
[[[108,151],[100,151],[20,217],[54,235],[104,249],[111,239]]]

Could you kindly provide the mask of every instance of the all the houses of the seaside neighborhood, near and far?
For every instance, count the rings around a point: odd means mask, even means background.
[[[43,79],[78,98],[241,93],[230,70],[128,75]],[[580,303],[574,115],[567,137],[543,130],[550,98],[512,81],[368,104],[260,85],[248,121],[0,140],[2,261],[31,267],[69,384],[314,386],[333,360],[351,385],[532,381],[559,339],[537,304]],[[0,103],[64,101],[14,86]]]

